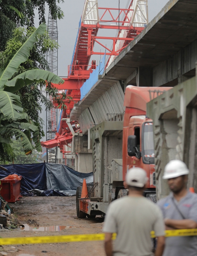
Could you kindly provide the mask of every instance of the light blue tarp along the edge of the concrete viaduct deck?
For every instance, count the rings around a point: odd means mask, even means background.
[[[90,77],[85,83],[81,86],[81,100],[85,97],[85,95],[89,92],[94,84],[98,81],[98,76],[102,75],[105,68],[105,55],[99,62],[99,66],[92,73],[90,73]]]

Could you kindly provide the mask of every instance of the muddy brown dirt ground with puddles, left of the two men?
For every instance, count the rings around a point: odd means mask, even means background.
[[[102,233],[103,219],[78,219],[76,197],[23,197],[12,204],[23,230],[0,229],[0,237],[30,237]],[[33,228],[29,228],[29,225]],[[55,227],[54,227],[55,226]],[[57,227],[65,226],[65,227]],[[43,228],[41,228],[43,227]],[[26,231],[26,229],[30,229]],[[41,230],[61,231],[41,231]],[[104,256],[103,241],[1,246],[0,255],[11,256]]]

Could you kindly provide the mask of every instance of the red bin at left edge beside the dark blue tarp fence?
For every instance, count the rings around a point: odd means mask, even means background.
[[[20,197],[20,180],[22,176],[19,176],[20,179],[6,179],[7,177],[0,179],[0,193],[5,201],[8,203],[15,203]]]

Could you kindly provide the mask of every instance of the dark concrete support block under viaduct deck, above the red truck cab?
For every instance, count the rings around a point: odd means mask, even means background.
[[[152,68],[138,67],[138,74],[136,76],[137,86],[152,87]]]

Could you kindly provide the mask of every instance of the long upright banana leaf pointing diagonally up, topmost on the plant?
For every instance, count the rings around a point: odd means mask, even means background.
[[[24,44],[16,51],[12,59],[7,64],[7,67],[1,72],[0,76],[0,90],[3,89],[5,83],[16,73],[18,66],[25,62],[30,56],[30,49],[33,47],[34,42],[37,39],[38,34],[44,34],[46,30],[46,24],[42,23],[38,29],[32,33],[32,35],[24,42]]]

